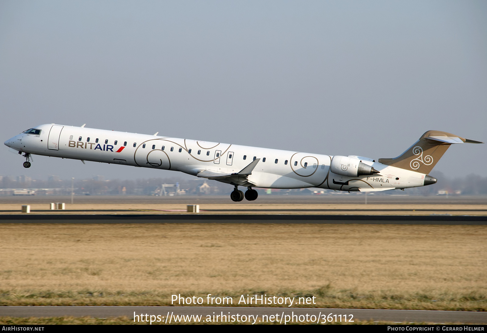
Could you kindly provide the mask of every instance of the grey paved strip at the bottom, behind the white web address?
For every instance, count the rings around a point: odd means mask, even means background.
[[[94,318],[107,318],[127,316],[140,320],[140,315],[145,314],[156,316],[160,315],[161,322],[173,323],[181,315],[201,315],[201,321],[207,315],[213,321],[213,315],[242,315],[246,320],[253,316],[256,323],[270,322],[273,316],[274,322],[283,324],[286,318],[290,320],[293,315],[294,322],[306,321],[306,314],[320,318],[319,322],[324,323],[324,318],[331,314],[333,321],[351,320],[373,320],[385,322],[415,322],[415,323],[462,323],[462,324],[486,324],[486,312],[467,312],[467,311],[425,311],[425,310],[373,310],[373,309],[316,309],[316,308],[251,308],[251,307],[154,307],[154,306],[12,306],[0,307],[0,316],[11,317],[60,317],[90,316]],[[277,316],[276,316],[277,315]],[[337,317],[335,317],[337,315]],[[286,317],[288,316],[288,317]],[[303,316],[303,317],[299,317]],[[309,318],[308,316],[308,318]],[[149,318],[148,317],[148,318]],[[256,318],[257,317],[257,318]],[[281,318],[282,317],[282,318]],[[221,317],[220,317],[221,318]],[[194,317],[193,317],[194,319]],[[253,320],[254,320],[253,319]],[[301,321],[302,319],[303,321]],[[145,320],[145,319],[144,319]],[[180,321],[183,321],[179,317]],[[315,319],[316,320],[316,319]],[[154,319],[155,321],[155,319]],[[194,321],[194,320],[191,320]],[[219,320],[221,322],[221,320]],[[248,320],[247,320],[248,321]]]

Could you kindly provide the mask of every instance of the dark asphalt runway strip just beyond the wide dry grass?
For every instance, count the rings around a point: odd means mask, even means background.
[[[487,216],[470,215],[0,215],[0,223],[318,223],[487,225]]]

